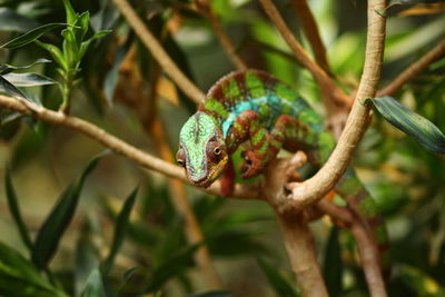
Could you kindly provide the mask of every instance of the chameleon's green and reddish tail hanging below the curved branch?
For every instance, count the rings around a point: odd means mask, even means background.
[[[390,251],[386,226],[378,215],[377,206],[369,192],[352,168],[335,187],[336,192],[348,204],[348,207],[363,220],[367,231],[372,235],[379,253],[379,265],[385,275],[390,274]]]

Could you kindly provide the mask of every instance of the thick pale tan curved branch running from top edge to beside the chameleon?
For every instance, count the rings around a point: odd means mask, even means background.
[[[368,32],[364,71],[353,109],[336,148],[315,176],[293,187],[291,195],[280,201],[280,211],[300,211],[317,202],[327,195],[349,166],[355,148],[370,119],[369,108],[362,105],[359,99],[374,97],[380,78],[386,20],[376,11],[383,10],[385,7],[385,0],[368,1]]]

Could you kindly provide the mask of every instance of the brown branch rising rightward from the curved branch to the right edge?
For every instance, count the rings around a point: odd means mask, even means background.
[[[394,96],[403,86],[424,71],[431,63],[445,56],[445,39],[435,46],[422,59],[406,68],[389,85],[377,92],[377,96]]]

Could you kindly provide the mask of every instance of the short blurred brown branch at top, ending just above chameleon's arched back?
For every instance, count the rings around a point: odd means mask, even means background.
[[[219,42],[222,46],[224,51],[226,52],[227,57],[230,59],[231,63],[238,69],[238,70],[246,70],[247,65],[243,61],[243,59],[237,55],[237,51],[231,43],[229,37],[226,34],[224,31],[221,24],[219,23],[218,16],[214,12],[214,10],[210,7],[210,3],[208,0],[197,0],[195,1],[196,6],[198,7],[198,10],[207,17],[209,20],[211,27],[214,28],[214,31],[216,36],[219,39]]]

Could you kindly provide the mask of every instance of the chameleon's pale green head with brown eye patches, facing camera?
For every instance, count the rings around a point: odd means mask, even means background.
[[[212,117],[198,111],[188,119],[179,135],[176,158],[195,186],[207,188],[220,176],[229,156],[221,129]]]

